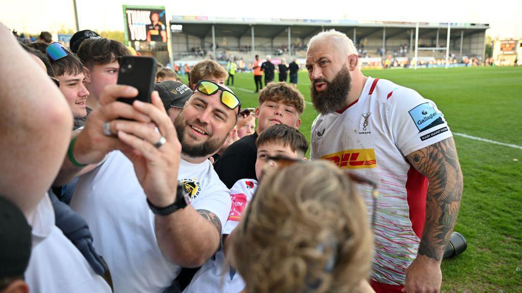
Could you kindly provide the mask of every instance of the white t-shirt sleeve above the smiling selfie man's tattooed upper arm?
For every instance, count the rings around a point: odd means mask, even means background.
[[[219,180],[216,176],[216,180]],[[225,188],[221,182],[219,184],[212,184],[205,190],[200,197],[192,203],[194,210],[207,210],[215,214],[221,225],[227,223],[227,217],[230,214],[230,194],[229,190]],[[223,229],[221,228],[221,232]]]

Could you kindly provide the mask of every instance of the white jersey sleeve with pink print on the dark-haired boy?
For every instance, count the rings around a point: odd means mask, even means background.
[[[246,209],[246,205],[252,200],[252,195],[257,188],[257,181],[254,179],[239,180],[230,189],[230,199],[232,207],[223,227],[223,234],[230,234],[239,225],[241,217]]]

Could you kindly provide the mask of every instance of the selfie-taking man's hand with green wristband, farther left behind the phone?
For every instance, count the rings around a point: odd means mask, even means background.
[[[115,135],[104,133],[104,124],[110,123],[111,132],[116,133],[113,120],[118,118],[132,119],[126,123],[150,123],[149,116],[137,111],[133,106],[116,102],[118,97],[135,97],[138,90],[129,86],[113,84],[106,86],[101,93],[99,106],[87,118],[85,128],[77,136],[73,154],[76,161],[82,164],[100,162],[112,150],[128,149]],[[125,121],[125,120],[121,120]]]

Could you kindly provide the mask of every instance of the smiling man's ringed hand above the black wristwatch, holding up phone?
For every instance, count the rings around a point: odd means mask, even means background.
[[[150,117],[158,131],[144,123],[118,121],[115,125],[117,137],[131,146],[132,150],[123,153],[133,162],[138,181],[149,201],[159,207],[168,206],[176,198],[181,143],[158,92],[152,92],[151,103],[135,101],[133,107]]]

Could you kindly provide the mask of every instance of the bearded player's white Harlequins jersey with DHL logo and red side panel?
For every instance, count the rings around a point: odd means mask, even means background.
[[[451,136],[432,101],[371,77],[348,108],[314,121],[312,159],[331,160],[377,182],[372,278],[379,283],[404,285],[424,227],[428,179],[405,156]],[[359,191],[371,210],[370,187],[359,185]]]

